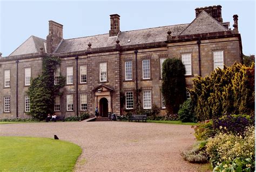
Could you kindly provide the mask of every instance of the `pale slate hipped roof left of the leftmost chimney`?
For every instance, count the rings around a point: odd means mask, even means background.
[[[12,52],[9,56],[12,55],[21,55],[21,54],[30,54],[30,53],[38,53],[40,52],[40,47],[44,47],[45,39],[38,38],[35,36],[29,37],[25,42],[22,43],[14,52]],[[45,52],[45,48],[43,50]]]

